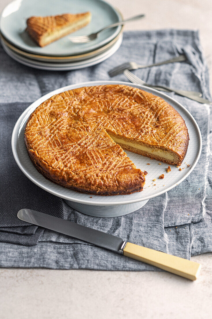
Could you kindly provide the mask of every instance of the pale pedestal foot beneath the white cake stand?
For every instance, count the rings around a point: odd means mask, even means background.
[[[79,211],[80,213],[83,213],[85,215],[94,217],[118,217],[132,213],[133,211],[137,211],[148,202],[148,199],[132,204],[112,206],[80,204],[66,199],[64,199],[64,202],[76,211]]]

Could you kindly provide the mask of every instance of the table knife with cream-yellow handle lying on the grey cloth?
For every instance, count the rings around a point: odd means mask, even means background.
[[[47,215],[39,211],[21,209],[18,211],[17,217],[28,223],[48,228],[58,233],[72,236],[93,245],[112,250],[120,255],[148,263],[190,280],[195,280],[201,269],[199,263],[195,263],[188,259],[135,245],[123,241],[120,237],[106,234],[99,230],[72,223],[71,221]]]

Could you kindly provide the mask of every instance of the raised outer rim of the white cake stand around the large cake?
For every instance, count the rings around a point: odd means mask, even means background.
[[[116,84],[116,85],[129,85],[129,86],[133,86],[133,87],[137,87],[139,89],[142,89],[144,91],[149,91],[149,93],[153,93],[154,95],[157,95],[157,96],[161,96],[162,98],[164,98],[164,100],[170,100],[171,103],[174,103],[174,104],[177,104],[180,108],[183,109],[183,111],[185,113],[187,113],[187,116],[190,117],[190,119],[192,120],[194,126],[195,126],[195,130],[198,132],[198,138],[199,138],[199,142],[200,142],[200,147],[199,147],[199,152],[198,152],[198,155],[196,156],[196,159],[195,159],[195,162],[194,164],[192,165],[192,167],[190,168],[190,170],[175,184],[173,184],[172,186],[164,189],[164,190],[161,190],[159,191],[158,193],[156,194],[153,194],[153,195],[149,195],[149,196],[146,196],[146,197],[143,197],[143,198],[137,198],[137,199],[132,199],[132,200],[123,200],[123,201],[117,201],[117,202],[107,202],[107,203],[104,203],[102,204],[101,203],[101,197],[99,196],[99,202],[92,202],[92,200],[84,200],[84,199],[76,199],[74,197],[70,197],[70,196],[66,196],[66,195],[63,195],[63,194],[59,194],[58,191],[54,191],[52,190],[51,188],[43,185],[41,182],[39,181],[36,181],[33,177],[31,177],[30,174],[28,174],[28,172],[25,170],[24,166],[21,164],[19,158],[18,158],[18,155],[17,155],[17,152],[16,152],[16,143],[17,143],[17,139],[16,139],[16,136],[17,136],[17,132],[19,132],[19,129],[20,129],[20,125],[22,124],[24,118],[26,117],[26,115],[28,114],[28,112],[30,111],[30,109],[32,109],[32,112],[34,111],[34,109],[36,107],[38,107],[43,101],[47,100],[48,98],[50,98],[52,95],[54,94],[58,94],[58,93],[62,93],[66,90],[72,90],[74,88],[79,88],[79,87],[83,87],[83,86],[94,86],[94,85],[109,85],[109,84]],[[159,95],[158,95],[159,94]],[[168,102],[169,103],[169,102]],[[171,103],[169,103],[170,105],[172,105]],[[33,109],[33,107],[35,107]],[[174,107],[174,106],[173,106]],[[19,123],[20,122],[20,123]],[[191,174],[191,172],[193,171],[193,169],[195,168],[199,158],[200,158],[200,155],[201,155],[201,152],[202,152],[202,135],[201,135],[201,132],[200,132],[200,129],[199,129],[199,126],[197,124],[197,122],[195,121],[195,118],[193,117],[193,115],[181,104],[179,103],[178,101],[176,101],[175,99],[173,99],[172,97],[170,97],[169,95],[165,94],[165,93],[162,93],[158,90],[155,90],[153,88],[150,88],[150,87],[147,87],[147,86],[144,86],[144,85],[138,85],[138,84],[134,84],[134,83],[131,83],[131,82],[124,82],[124,81],[89,81],[89,82],[83,82],[83,83],[78,83],[78,84],[71,84],[71,85],[66,85],[66,86],[63,86],[61,88],[58,88],[56,90],[53,90],[49,93],[46,93],[45,95],[43,95],[42,97],[40,97],[38,100],[34,101],[33,103],[31,103],[29,105],[28,108],[26,108],[24,110],[24,112],[19,116],[19,118],[17,119],[17,122],[15,123],[15,126],[13,128],[13,132],[12,132],[12,137],[11,137],[11,148],[12,148],[12,153],[13,153],[13,157],[18,165],[18,167],[21,169],[21,171],[32,181],[34,182],[37,186],[39,186],[40,188],[46,190],[47,192],[57,196],[57,197],[60,197],[60,198],[63,198],[63,199],[66,199],[66,200],[69,200],[69,201],[72,201],[72,202],[77,202],[77,203],[81,203],[81,204],[90,204],[90,205],[97,205],[97,206],[112,206],[112,205],[124,205],[124,204],[132,204],[132,203],[137,203],[137,202],[141,202],[141,201],[145,201],[147,199],[150,199],[150,198],[154,198],[154,197],[157,197],[157,196],[160,196],[166,192],[168,192],[169,190],[173,189],[174,187],[176,187],[177,185],[179,185],[181,182],[183,182],[187,177],[188,175]],[[33,165],[31,163],[31,165]],[[40,173],[39,173],[40,174]],[[50,181],[51,182],[51,181]],[[52,182],[53,183],[53,182]],[[60,186],[60,185],[59,185]],[[62,186],[61,186],[61,189],[64,189]],[[87,194],[86,194],[87,195]],[[129,194],[130,196],[130,194]],[[109,198],[110,196],[107,196],[107,198]],[[112,196],[114,198],[114,196]]]

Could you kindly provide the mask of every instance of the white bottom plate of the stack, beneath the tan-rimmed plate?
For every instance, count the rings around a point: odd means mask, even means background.
[[[95,64],[98,64],[106,59],[108,59],[110,56],[112,56],[120,47],[122,43],[123,36],[121,36],[117,42],[108,50],[105,52],[99,54],[98,56],[95,56],[90,59],[86,59],[83,61],[78,62],[69,62],[69,63],[49,63],[49,62],[41,62],[41,61],[35,61],[28,59],[24,56],[21,56],[15,52],[13,52],[10,48],[8,48],[3,41],[1,41],[2,46],[5,50],[5,52],[14,60],[16,60],[19,63],[22,63],[24,65],[30,66],[35,69],[41,69],[41,70],[50,70],[50,71],[65,71],[65,70],[76,70],[76,69],[82,69],[85,67],[89,67]]]

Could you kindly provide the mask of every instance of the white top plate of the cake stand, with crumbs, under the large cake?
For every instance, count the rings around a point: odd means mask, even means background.
[[[130,85],[133,87],[138,87],[147,92],[153,93],[154,95],[160,96],[165,101],[167,101],[170,105],[172,105],[183,117],[186,122],[188,133],[190,137],[188,152],[181,165],[182,169],[179,171],[179,168],[175,166],[171,166],[171,172],[166,173],[165,169],[168,167],[168,164],[162,163],[162,165],[158,165],[159,161],[155,159],[149,159],[148,157],[144,157],[135,153],[126,152],[130,159],[135,163],[136,167],[141,170],[146,170],[148,175],[146,176],[146,184],[145,188],[141,192],[133,193],[130,195],[115,195],[115,196],[98,196],[98,195],[88,195],[82,194],[79,192],[75,192],[70,189],[65,189],[62,186],[54,184],[53,182],[48,181],[44,178],[44,176],[36,170],[33,166],[24,144],[24,128],[26,121],[30,114],[37,108],[43,101],[50,98],[54,94],[58,94],[64,92],[66,90],[75,89],[82,86],[93,86],[93,85],[106,85],[106,84],[124,84]],[[159,196],[166,191],[172,189],[177,184],[181,183],[194,169],[202,150],[202,137],[200,133],[200,129],[193,118],[193,116],[184,108],[180,103],[169,97],[168,95],[161,93],[152,88],[148,88],[142,85],[136,85],[128,82],[119,82],[119,81],[93,81],[93,82],[85,82],[80,84],[68,85],[57,90],[54,90],[34,103],[32,103],[19,117],[17,120],[15,127],[12,133],[12,151],[14,158],[23,171],[23,173],[36,185],[45,189],[46,191],[54,194],[58,197],[64,198],[66,200],[72,202],[78,202],[82,204],[90,204],[90,205],[122,205],[122,204],[131,204],[140,201],[145,201],[149,198]],[[190,164],[190,167],[187,167],[186,164]],[[150,165],[147,165],[150,163]],[[165,177],[162,180],[159,180],[158,177],[164,174]],[[156,181],[153,182],[153,179],[156,178]],[[154,186],[156,184],[156,186]],[[149,186],[150,185],[150,186]]]

